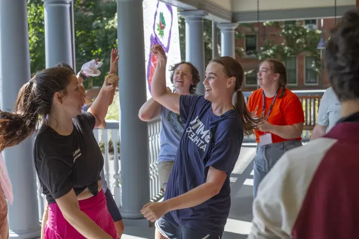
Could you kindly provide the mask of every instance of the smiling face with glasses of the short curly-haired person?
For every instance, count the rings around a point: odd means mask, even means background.
[[[192,84],[191,68],[188,64],[180,64],[173,72],[172,83],[176,89],[189,91]]]

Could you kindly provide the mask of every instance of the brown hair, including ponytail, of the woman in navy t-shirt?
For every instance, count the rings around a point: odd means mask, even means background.
[[[238,113],[240,113],[243,119],[244,135],[248,136],[253,134],[254,129],[256,128],[256,124],[261,123],[262,119],[254,119],[253,115],[247,110],[247,104],[244,100],[244,95],[241,89],[244,79],[244,71],[241,63],[229,56],[217,57],[212,59],[211,62],[221,64],[225,69],[225,74],[227,77],[235,77],[234,107]]]

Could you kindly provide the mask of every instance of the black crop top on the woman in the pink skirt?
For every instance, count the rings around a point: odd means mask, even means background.
[[[73,120],[68,136],[57,134],[49,126],[39,131],[34,145],[36,173],[48,203],[74,189],[78,195],[89,188],[98,193],[98,180],[104,158],[93,135],[95,117],[83,112]]]

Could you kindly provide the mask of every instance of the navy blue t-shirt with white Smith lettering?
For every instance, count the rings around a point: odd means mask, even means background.
[[[221,236],[231,206],[229,176],[240,155],[244,136],[242,118],[236,110],[214,115],[211,102],[204,96],[181,95],[179,113],[185,130],[167,183],[165,200],[204,184],[209,166],[225,171],[227,178],[220,193],[213,198],[192,208],[171,211],[164,218]]]

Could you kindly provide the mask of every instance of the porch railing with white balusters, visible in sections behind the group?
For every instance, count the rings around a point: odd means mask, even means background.
[[[324,90],[315,91],[293,91],[298,95],[302,101],[303,111],[305,114],[305,126],[303,131],[303,141],[310,139],[310,133],[316,123],[317,111],[320,100],[324,93]],[[246,101],[248,100],[251,92],[244,92]],[[157,171],[157,157],[159,153],[159,146],[161,140],[159,134],[161,133],[161,120],[156,119],[148,122],[148,140],[149,140],[149,170],[150,170],[150,197],[152,201],[158,201],[163,197],[161,188],[159,185],[158,171]],[[114,196],[115,202],[118,207],[122,205],[121,194],[121,164],[119,162],[119,121],[108,120],[106,121],[105,129],[95,129],[94,136],[101,147],[105,165],[104,172],[105,178],[108,182],[108,187]],[[244,143],[255,142],[254,136],[249,136],[244,139]],[[36,177],[37,178],[37,177]],[[39,208],[39,219],[42,219],[45,206],[45,197],[41,193],[41,188],[37,182],[37,198]]]

